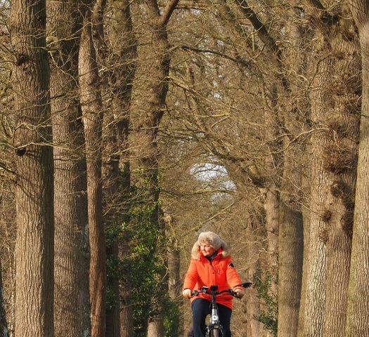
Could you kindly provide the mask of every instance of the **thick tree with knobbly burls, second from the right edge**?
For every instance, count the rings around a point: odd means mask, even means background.
[[[329,2],[327,3],[327,8]],[[320,39],[315,48],[311,118],[311,230],[306,336],[344,336],[356,183],[360,60],[346,4],[330,13],[306,1]],[[316,90],[318,88],[318,90]],[[339,290],[338,290],[339,289]]]

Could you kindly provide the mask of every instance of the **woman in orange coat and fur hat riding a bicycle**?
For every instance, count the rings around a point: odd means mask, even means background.
[[[242,298],[245,292],[240,284],[240,277],[226,243],[214,232],[200,233],[198,241],[193,245],[190,266],[183,284],[183,296],[191,299],[195,337],[204,336],[205,318],[210,313],[211,296],[202,294],[191,298],[191,291],[202,286],[216,285],[218,291],[232,288],[237,293],[236,296]],[[224,337],[231,337],[232,299],[231,295],[216,298]]]

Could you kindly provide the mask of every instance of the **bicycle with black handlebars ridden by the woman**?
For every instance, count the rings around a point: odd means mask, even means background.
[[[251,286],[251,282],[245,282],[242,284],[238,284],[238,286],[243,286],[244,288],[248,288]],[[201,294],[209,294],[212,295],[212,300],[210,302],[210,318],[209,324],[207,324],[205,329],[205,337],[222,337],[223,336],[223,328],[219,322],[219,314],[218,314],[218,306],[216,305],[216,296],[221,293],[230,293],[232,296],[236,296],[236,292],[232,289],[226,289],[222,291],[217,291],[218,286],[203,286],[200,290],[194,290],[191,292],[192,296],[199,296]]]

